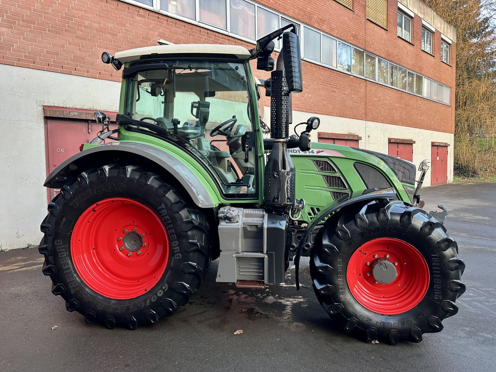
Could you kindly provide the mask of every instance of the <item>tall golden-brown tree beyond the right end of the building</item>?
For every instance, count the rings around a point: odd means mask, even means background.
[[[424,0],[456,28],[455,168],[496,174],[496,0]]]

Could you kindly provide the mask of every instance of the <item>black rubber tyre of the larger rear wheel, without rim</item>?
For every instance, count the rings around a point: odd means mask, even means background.
[[[144,294],[120,300],[100,295],[81,279],[70,247],[74,225],[83,211],[115,197],[135,200],[154,211],[169,239],[169,259],[162,277]],[[157,206],[161,206],[160,213]],[[52,292],[62,296],[66,309],[80,312],[87,323],[97,321],[109,329],[156,323],[161,316],[172,315],[185,305],[206,274],[210,263],[207,219],[157,173],[122,164],[90,169],[63,186],[48,210],[41,224],[44,238],[39,247],[45,256],[43,273],[52,279]]]

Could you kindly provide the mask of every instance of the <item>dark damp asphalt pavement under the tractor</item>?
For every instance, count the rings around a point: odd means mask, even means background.
[[[495,371],[496,183],[429,187],[421,196],[428,211],[450,209],[445,226],[465,260],[467,291],[444,330],[419,344],[365,343],[336,329],[315,299],[308,258],[298,292],[292,264],[284,285],[241,290],[215,282],[214,261],[172,317],[108,330],[66,311],[37,249],[19,249],[0,253],[0,371]]]

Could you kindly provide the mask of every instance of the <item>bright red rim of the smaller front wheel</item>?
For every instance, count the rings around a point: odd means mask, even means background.
[[[396,270],[392,282],[382,284],[377,282],[378,276],[374,277],[373,268],[380,261],[389,261],[390,270]],[[430,274],[426,260],[415,247],[398,239],[379,238],[351,255],[346,280],[351,294],[363,307],[393,315],[420,303],[429,287]]]

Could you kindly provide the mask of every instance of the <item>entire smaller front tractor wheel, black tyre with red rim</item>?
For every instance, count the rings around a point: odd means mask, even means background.
[[[444,226],[422,209],[401,201],[350,207],[315,239],[313,289],[333,321],[368,342],[420,342],[458,311],[465,264],[457,252]]]

